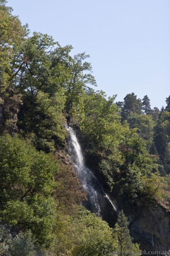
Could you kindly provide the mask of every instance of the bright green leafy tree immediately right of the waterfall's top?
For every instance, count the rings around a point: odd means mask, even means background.
[[[95,92],[92,89],[87,91],[82,133],[88,138],[91,147],[97,146],[109,150],[116,146],[121,125],[114,99],[115,96],[106,99],[103,91]]]

